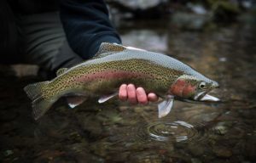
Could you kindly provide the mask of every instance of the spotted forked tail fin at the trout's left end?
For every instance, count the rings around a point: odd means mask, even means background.
[[[37,82],[24,87],[27,96],[32,99],[33,116],[38,120],[55,103],[55,99],[46,100],[43,88],[48,87],[49,82]],[[44,89],[45,90],[45,89]]]

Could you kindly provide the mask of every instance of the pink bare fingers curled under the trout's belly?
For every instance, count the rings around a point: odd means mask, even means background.
[[[128,100],[131,104],[148,104],[148,101],[158,101],[155,93],[146,93],[143,87],[135,87],[133,84],[122,84],[119,87],[119,99]]]

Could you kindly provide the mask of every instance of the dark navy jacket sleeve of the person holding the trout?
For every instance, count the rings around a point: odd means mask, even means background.
[[[102,42],[121,43],[102,0],[61,0],[61,21],[73,51],[89,59]]]

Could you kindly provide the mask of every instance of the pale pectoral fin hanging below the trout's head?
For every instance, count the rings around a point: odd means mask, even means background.
[[[170,113],[172,110],[174,97],[169,95],[166,100],[162,101],[160,104],[158,104],[158,117],[162,118]]]

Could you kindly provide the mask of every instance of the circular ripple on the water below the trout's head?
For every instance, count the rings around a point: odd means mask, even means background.
[[[154,121],[137,126],[136,135],[141,141],[186,143],[203,141],[206,138],[203,124],[189,124],[185,121]]]

